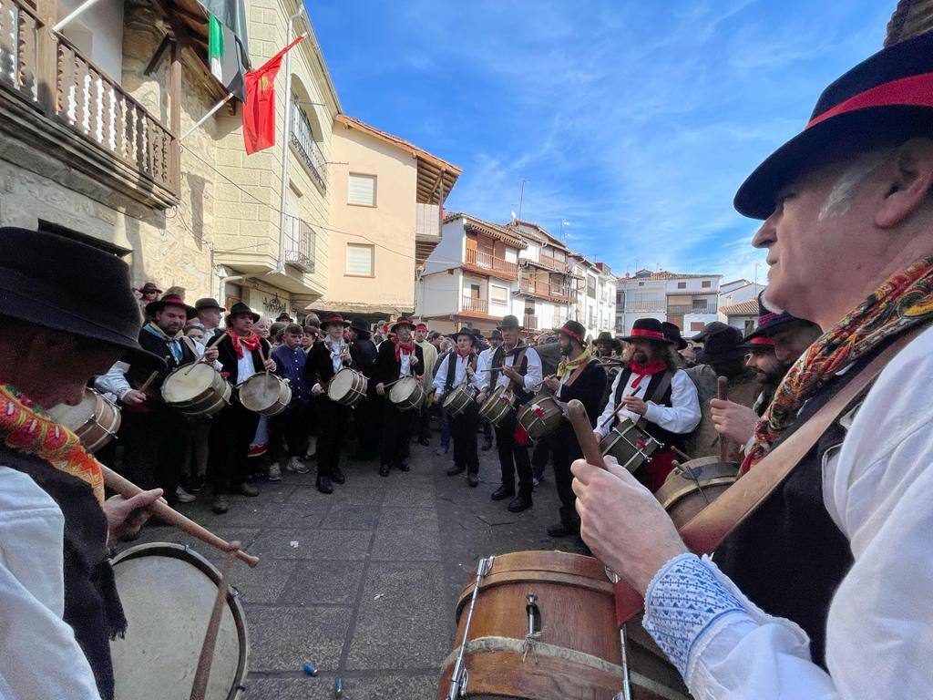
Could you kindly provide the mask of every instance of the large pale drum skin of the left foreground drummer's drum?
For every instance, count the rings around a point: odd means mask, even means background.
[[[184,545],[154,542],[113,560],[127,619],[110,642],[116,700],[188,700],[220,573]],[[233,700],[246,676],[249,640],[231,590],[217,633],[206,700]]]

